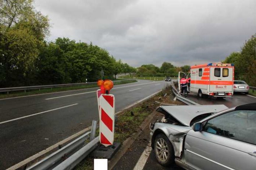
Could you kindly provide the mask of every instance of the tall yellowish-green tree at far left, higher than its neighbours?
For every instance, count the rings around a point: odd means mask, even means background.
[[[34,10],[32,0],[0,1],[1,86],[30,85],[49,20]]]

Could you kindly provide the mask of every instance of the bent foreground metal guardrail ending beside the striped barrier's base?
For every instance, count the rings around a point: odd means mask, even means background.
[[[35,165],[28,167],[26,170],[70,170],[74,168],[96,148],[99,142],[99,137],[95,138],[96,125],[97,121],[93,120],[91,132],[83,134],[63,148],[40,160]],[[89,136],[90,142],[84,145],[85,141],[89,139]]]

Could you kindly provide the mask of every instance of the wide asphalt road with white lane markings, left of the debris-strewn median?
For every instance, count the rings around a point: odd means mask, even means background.
[[[115,95],[116,112],[161,90],[165,84],[139,80],[114,86],[111,94]],[[97,89],[0,100],[0,170],[85,129],[93,119],[99,120]]]

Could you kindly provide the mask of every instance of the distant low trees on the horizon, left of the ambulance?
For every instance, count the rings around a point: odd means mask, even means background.
[[[163,62],[160,68],[153,64],[142,65],[141,67],[137,68],[136,75],[139,77],[144,77],[144,76],[177,77],[179,71],[188,73],[189,70],[190,70],[190,66],[188,65],[185,65],[182,67],[175,67],[171,63]]]

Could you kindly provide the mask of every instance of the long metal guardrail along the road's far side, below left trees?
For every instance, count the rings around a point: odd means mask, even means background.
[[[122,81],[132,81],[132,80],[117,80],[115,82]],[[80,85],[92,85],[97,84],[97,82],[87,82],[87,83],[73,83],[73,84],[54,84],[54,85],[43,85],[43,86],[24,86],[24,87],[10,87],[10,88],[0,88],[0,92],[11,92],[11,91],[21,91],[32,90],[32,89],[46,89],[46,88],[56,88],[56,87],[68,87],[68,86],[80,86]]]

